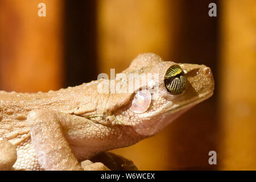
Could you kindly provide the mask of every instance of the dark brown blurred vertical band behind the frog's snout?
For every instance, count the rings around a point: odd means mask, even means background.
[[[217,17],[208,15],[208,5],[217,4]],[[180,1],[180,20],[174,34],[176,46],[172,60],[178,63],[205,64],[217,80],[218,3],[217,1]],[[215,90],[218,89],[216,82]],[[209,151],[218,154],[219,123],[217,94],[193,107],[177,121],[170,131],[171,166],[174,169],[216,169],[210,165]],[[178,146],[178,147],[177,147]]]

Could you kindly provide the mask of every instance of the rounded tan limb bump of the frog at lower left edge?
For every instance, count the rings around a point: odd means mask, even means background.
[[[16,160],[16,147],[8,141],[0,141],[0,170],[10,170]]]

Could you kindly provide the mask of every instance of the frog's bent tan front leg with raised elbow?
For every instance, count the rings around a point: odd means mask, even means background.
[[[39,163],[46,170],[83,170],[73,154],[67,136],[86,133],[88,121],[53,110],[33,110],[27,116],[31,140]]]

